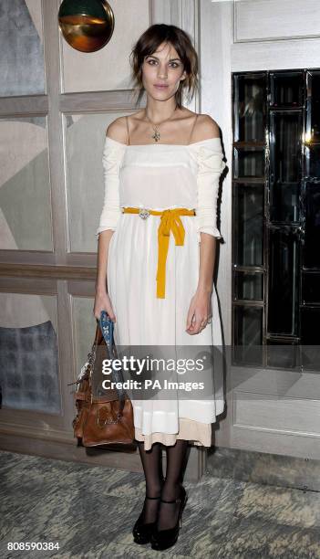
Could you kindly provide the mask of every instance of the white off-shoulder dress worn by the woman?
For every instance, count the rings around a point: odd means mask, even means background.
[[[199,279],[201,232],[220,238],[216,224],[219,178],[225,163],[220,138],[189,145],[126,145],[108,136],[102,158],[104,206],[96,233],[114,230],[108,248],[108,295],[117,321],[119,345],[214,345],[222,347],[217,293],[212,290],[212,322],[199,334],[185,332],[188,310]],[[157,297],[160,216],[142,219],[122,207],[154,210],[195,209],[181,216],[184,244],[170,234],[165,297]],[[225,406],[222,367],[212,366],[214,396],[196,399],[132,400],[135,437],[148,450],[154,442],[177,438],[211,447],[212,423]]]

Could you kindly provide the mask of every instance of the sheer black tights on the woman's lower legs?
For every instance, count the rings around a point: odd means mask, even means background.
[[[150,450],[144,449],[144,443],[140,442],[139,454],[146,478],[146,495],[158,497],[164,501],[174,501],[181,497],[182,474],[185,465],[188,441],[178,439],[173,446],[166,448],[167,471],[161,491],[162,464],[161,445],[154,443]],[[144,505],[144,522],[155,522],[159,511],[158,529],[167,530],[172,528],[177,520],[181,503],[160,502],[160,500],[147,499]]]

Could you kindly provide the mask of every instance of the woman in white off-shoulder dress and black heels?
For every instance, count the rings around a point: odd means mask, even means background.
[[[225,163],[216,122],[181,104],[182,90],[192,97],[198,85],[197,53],[184,31],[161,24],[139,37],[131,57],[139,99],[145,90],[147,104],[107,129],[94,315],[108,312],[116,344],[219,345],[212,275]],[[132,404],[146,478],[134,541],[163,550],[177,541],[187,500],[181,478],[188,441],[211,446],[224,399]]]

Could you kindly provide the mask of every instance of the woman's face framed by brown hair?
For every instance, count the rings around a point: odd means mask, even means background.
[[[142,83],[155,100],[168,100],[175,95],[186,72],[179,55],[170,43],[162,43],[142,64]]]

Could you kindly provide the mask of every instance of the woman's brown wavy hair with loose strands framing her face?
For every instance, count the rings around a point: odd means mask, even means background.
[[[177,106],[181,109],[182,92],[187,90],[188,102],[191,101],[195,90],[199,89],[198,79],[198,55],[191,43],[191,37],[177,26],[166,24],[154,24],[139,37],[132,48],[129,56],[132,69],[132,79],[134,81],[134,91],[138,91],[137,104],[141,100],[144,92],[142,83],[142,64],[144,58],[152,55],[161,43],[170,43],[181,58],[183,69],[186,71],[186,78],[182,79],[179,89],[175,93]]]

